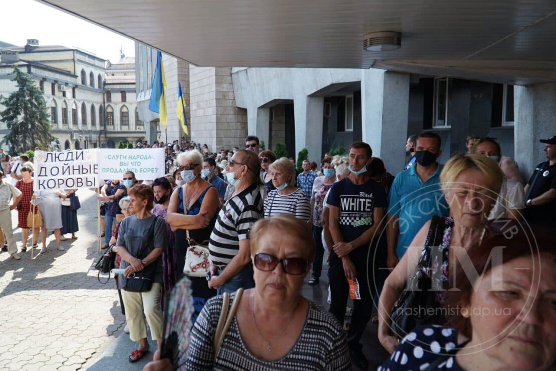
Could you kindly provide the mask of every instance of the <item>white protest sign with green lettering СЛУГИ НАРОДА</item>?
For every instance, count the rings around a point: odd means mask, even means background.
[[[165,155],[163,148],[143,149],[98,149],[98,178],[122,179],[128,171],[135,173],[135,178],[154,180],[163,177]]]

